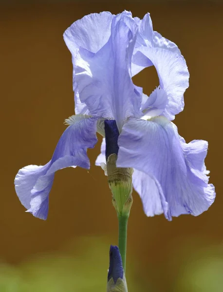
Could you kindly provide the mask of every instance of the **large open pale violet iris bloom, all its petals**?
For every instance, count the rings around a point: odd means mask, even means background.
[[[16,192],[35,217],[46,219],[49,192],[57,170],[90,168],[87,149],[105,136],[104,121],[115,120],[117,167],[132,167],[133,187],[147,216],[203,213],[213,203],[204,165],[207,142],[186,143],[171,122],[184,109],[189,73],[171,41],[153,31],[149,13],[141,20],[124,11],[90,14],[64,33],[74,66],[75,115],[62,134],[50,162],[19,170]],[[155,66],[159,85],[147,96],[132,76]],[[149,76],[148,76],[149,78]],[[149,81],[149,80],[148,80]],[[96,165],[105,163],[105,139]]]

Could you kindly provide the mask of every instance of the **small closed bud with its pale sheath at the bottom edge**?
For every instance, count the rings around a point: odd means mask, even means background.
[[[110,247],[107,292],[128,292],[119,249],[113,245]]]

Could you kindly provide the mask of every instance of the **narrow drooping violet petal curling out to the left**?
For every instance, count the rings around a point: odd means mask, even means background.
[[[49,192],[55,172],[70,166],[90,168],[86,151],[97,142],[97,118],[79,115],[67,121],[70,126],[60,137],[51,161],[43,166],[23,167],[15,178],[19,200],[27,212],[40,219],[47,218]]]

